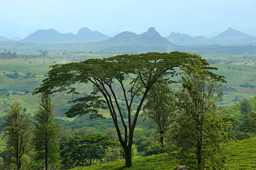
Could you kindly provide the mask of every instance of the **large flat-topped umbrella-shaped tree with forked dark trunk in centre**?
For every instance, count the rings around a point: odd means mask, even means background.
[[[131,167],[133,132],[148,91],[163,76],[176,75],[175,68],[187,63],[187,59],[193,57],[195,55],[175,51],[138,55],[125,54],[104,59],[88,59],[79,63],[56,64],[51,66],[52,69],[48,72],[48,78],[44,79],[41,87],[36,88],[34,93],[47,92],[50,94],[56,91],[69,90],[68,93],[78,94],[74,84],[90,83],[92,93],[73,100],[76,104],[66,113],[67,117],[90,113],[91,118],[102,118],[102,114],[98,114],[97,110],[108,108],[115,124],[118,139],[125,151],[125,165]],[[117,87],[120,87],[123,93],[122,97],[127,109],[125,112],[120,109],[121,101],[117,99]],[[135,96],[141,98],[132,120],[131,112],[134,109],[132,104]],[[107,107],[105,107],[105,103]],[[126,112],[128,113],[128,123],[123,117]],[[118,121],[124,127],[123,137]]]

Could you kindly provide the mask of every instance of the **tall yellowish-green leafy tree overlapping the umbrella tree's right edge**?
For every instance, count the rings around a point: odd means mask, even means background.
[[[216,169],[221,165],[219,153],[223,141],[223,121],[216,102],[221,101],[223,76],[204,65],[200,57],[182,66],[182,86],[176,92],[177,117],[170,133],[173,155],[195,169]]]

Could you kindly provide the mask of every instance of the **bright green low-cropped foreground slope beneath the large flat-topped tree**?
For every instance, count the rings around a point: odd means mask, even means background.
[[[225,169],[227,170],[255,170],[256,169],[256,137],[232,142],[224,151]],[[76,167],[72,170],[174,170],[177,165],[175,158],[168,154],[138,157],[132,160],[131,168],[125,167],[125,161],[109,162]]]

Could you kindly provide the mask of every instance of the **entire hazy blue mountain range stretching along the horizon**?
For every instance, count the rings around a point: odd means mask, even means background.
[[[0,36],[0,41],[16,41],[25,43],[85,43],[85,42],[99,42],[110,43],[109,46],[190,46],[190,45],[249,45],[256,44],[256,36],[250,36],[233,28],[228,28],[223,33],[218,34],[212,38],[205,38],[204,36],[189,36],[188,34],[170,33],[167,37],[161,35],[154,27],[148,28],[148,31],[142,34],[136,34],[129,31],[124,31],[113,37],[108,37],[97,30],[92,31],[89,28],[81,28],[77,34],[73,33],[59,33],[57,30],[37,30],[31,33],[24,39],[20,37],[12,39]],[[175,45],[177,44],[177,45]],[[108,46],[108,48],[109,48]],[[136,48],[136,47],[134,47]]]

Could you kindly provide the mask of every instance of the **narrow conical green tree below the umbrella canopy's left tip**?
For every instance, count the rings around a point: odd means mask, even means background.
[[[35,129],[33,130],[33,144],[36,150],[36,160],[44,160],[45,170],[49,164],[55,165],[59,162],[59,125],[54,122],[51,98],[48,94],[41,97],[40,107],[35,112]]]

